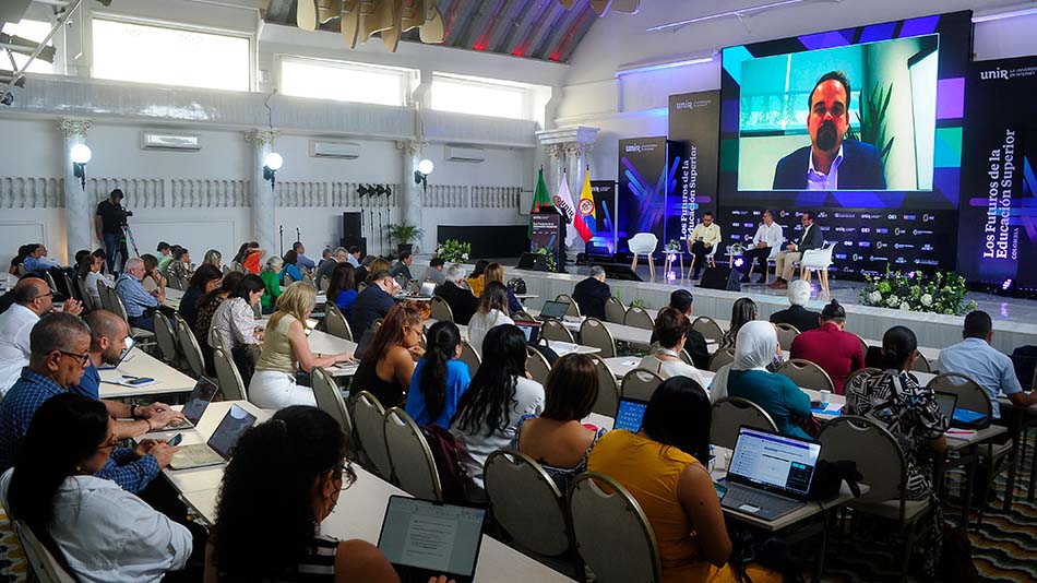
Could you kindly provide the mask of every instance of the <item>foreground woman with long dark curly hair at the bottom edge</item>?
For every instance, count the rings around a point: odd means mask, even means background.
[[[357,479],[345,451],[342,428],[314,407],[246,431],[219,487],[205,581],[398,582],[370,543],[320,532]]]

